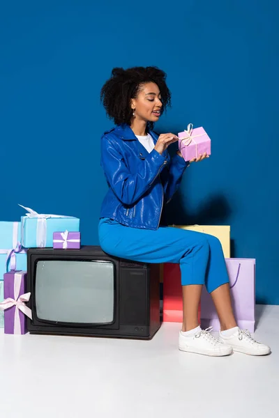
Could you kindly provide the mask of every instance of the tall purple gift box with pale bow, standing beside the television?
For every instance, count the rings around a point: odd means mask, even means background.
[[[27,316],[32,318],[32,314],[25,304],[30,298],[30,293],[25,293],[26,281],[26,271],[4,274],[4,300],[0,303],[0,309],[4,311],[5,334],[27,333]]]

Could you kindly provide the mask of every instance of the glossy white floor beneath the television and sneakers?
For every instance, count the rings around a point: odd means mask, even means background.
[[[0,330],[0,417],[277,418],[279,306],[257,317],[267,357],[182,353],[177,323],[151,341]]]

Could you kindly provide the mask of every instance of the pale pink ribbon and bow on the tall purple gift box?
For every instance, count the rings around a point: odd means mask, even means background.
[[[15,299],[8,297],[3,302],[0,303],[0,309],[5,311],[8,308],[15,306],[15,323],[14,323],[14,334],[21,334],[20,326],[20,311],[30,319],[32,319],[32,311],[29,307],[26,306],[24,302],[29,302],[31,293],[24,293],[20,295],[20,284],[22,281],[22,274],[25,272],[16,272],[15,281],[14,281],[14,295]]]

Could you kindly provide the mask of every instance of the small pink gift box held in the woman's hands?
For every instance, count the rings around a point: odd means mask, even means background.
[[[203,127],[193,129],[189,123],[187,130],[179,132],[179,150],[185,161],[199,157],[199,154],[211,155],[211,139]]]

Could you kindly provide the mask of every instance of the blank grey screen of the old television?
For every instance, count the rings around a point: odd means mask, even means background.
[[[111,261],[38,261],[37,317],[54,323],[112,323],[114,288]]]

